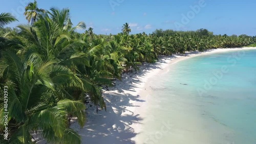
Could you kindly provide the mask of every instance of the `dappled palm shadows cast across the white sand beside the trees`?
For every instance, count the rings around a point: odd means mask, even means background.
[[[116,86],[103,93],[106,111],[100,110],[95,113],[93,106],[87,106],[86,126],[71,126],[79,132],[83,143],[135,143],[133,138],[138,133],[131,126],[141,124],[143,117],[140,116],[138,108],[145,102],[136,89],[152,69],[161,69],[160,64],[166,63],[167,59],[175,58],[160,57],[154,64],[144,63],[139,71],[123,73],[122,81],[115,81]]]

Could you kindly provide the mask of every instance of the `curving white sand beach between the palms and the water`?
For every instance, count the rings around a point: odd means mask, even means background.
[[[87,105],[87,124],[83,128],[74,122],[74,128],[82,137],[82,143],[144,143],[136,138],[141,133],[144,111],[148,106],[148,79],[166,73],[170,65],[195,56],[209,55],[227,51],[256,50],[256,47],[236,49],[214,49],[206,52],[186,52],[186,55],[160,57],[154,64],[143,64],[140,71],[125,73],[122,81],[115,81],[115,86],[103,91],[106,111],[96,113],[94,106]],[[178,113],[178,112],[177,112]],[[43,143],[38,142],[38,143]]]

